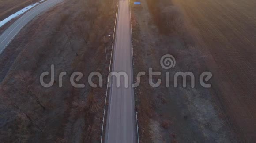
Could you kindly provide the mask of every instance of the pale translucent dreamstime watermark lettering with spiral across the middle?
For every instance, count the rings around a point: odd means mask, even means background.
[[[182,78],[182,87],[186,88],[187,85],[190,85],[192,88],[195,87],[195,82],[196,82],[196,79],[195,79],[195,75],[190,72],[190,71],[187,71],[187,72],[175,72],[173,74],[173,71],[171,71],[171,68],[174,68],[175,65],[176,65],[176,59],[175,57],[173,57],[173,55],[171,54],[166,54],[164,56],[161,57],[160,59],[160,64],[161,64],[161,67],[166,70],[165,73],[162,73],[162,71],[153,71],[152,68],[149,68],[148,69],[148,84],[151,86],[151,87],[159,87],[161,84],[162,84],[162,79],[157,79],[157,80],[153,80],[153,77],[154,76],[160,76],[162,74],[165,75],[164,79],[165,79],[165,86],[168,88],[170,87],[170,84],[171,84],[171,81],[173,81],[173,87],[174,88],[177,88],[179,86],[178,84],[178,78]],[[43,72],[41,75],[40,75],[40,83],[43,87],[45,88],[49,88],[51,86],[53,86],[53,83],[54,83],[54,79],[55,79],[55,67],[54,65],[51,65],[51,71],[50,73],[49,72]],[[172,72],[172,77],[170,77],[170,72]],[[44,81],[44,78],[45,76],[49,76],[50,75],[50,82],[49,83],[45,83]],[[61,88],[63,86],[63,77],[67,75],[67,72],[61,72],[60,75],[58,76],[58,83],[59,83],[59,87]],[[137,75],[136,75],[136,83],[133,83],[133,84],[129,84],[129,81],[132,81],[132,77],[129,77],[128,74],[126,72],[110,72],[109,73],[109,84],[108,84],[108,87],[111,87],[111,86],[116,86],[117,88],[120,87],[120,83],[123,82],[122,85],[124,85],[124,88],[128,88],[128,87],[132,87],[132,88],[136,88],[140,85],[141,83],[141,77],[143,75],[146,75],[146,72],[145,71],[141,71],[139,72]],[[97,76],[98,77],[98,85],[96,83],[93,83],[92,81],[92,78],[94,76]],[[203,86],[204,88],[211,88],[211,84],[209,83],[206,83],[208,82],[211,77],[212,77],[212,73],[211,72],[208,72],[208,71],[205,71],[205,72],[202,72],[200,75],[199,75],[199,83],[200,83],[200,86]],[[112,78],[112,77],[115,77],[115,80]],[[162,76],[163,77],[163,76]],[[75,88],[84,88],[85,87],[85,84],[78,84],[76,82],[79,82],[80,79],[83,78],[83,73],[82,72],[73,72],[72,75],[70,76],[70,83],[72,86],[74,86]],[[121,80],[121,78],[123,80]],[[113,80],[112,80],[113,79]],[[156,78],[154,78],[156,79]],[[187,80],[187,79],[190,79],[190,80]],[[103,77],[102,77],[102,74],[100,72],[91,72],[90,75],[88,76],[88,84],[93,87],[93,88],[96,88],[96,87],[103,87]],[[188,84],[190,82],[190,84]]]

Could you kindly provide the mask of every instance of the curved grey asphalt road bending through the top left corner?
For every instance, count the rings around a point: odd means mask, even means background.
[[[43,11],[49,9],[50,7],[53,7],[54,5],[62,1],[63,0],[47,0],[23,14],[0,36],[0,54],[29,21],[35,18],[38,14],[41,14]]]

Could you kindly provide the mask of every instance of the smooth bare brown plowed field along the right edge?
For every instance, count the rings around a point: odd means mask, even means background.
[[[192,24],[214,94],[238,135],[256,139],[256,1],[173,0]]]

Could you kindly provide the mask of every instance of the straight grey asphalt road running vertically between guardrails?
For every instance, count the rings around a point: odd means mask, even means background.
[[[124,78],[120,78],[120,87],[117,88],[116,78],[113,76],[105,142],[135,143],[137,136],[134,91],[131,87],[133,75],[129,0],[120,0],[119,2],[115,40],[112,71],[126,72],[129,86],[125,88]]]

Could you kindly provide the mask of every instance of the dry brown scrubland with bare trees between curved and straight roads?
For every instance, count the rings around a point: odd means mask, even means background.
[[[116,1],[64,1],[31,21],[0,56],[0,140],[2,142],[96,142],[101,136],[105,83],[104,35],[113,35]],[[110,56],[112,39],[107,39]],[[52,87],[39,76],[55,65]],[[58,75],[66,71],[63,87]],[[78,89],[72,72],[83,73]],[[87,77],[102,73],[103,88]],[[47,77],[45,82],[50,78]],[[97,81],[97,79],[96,79]]]

